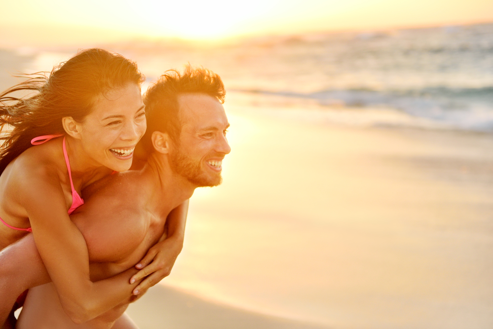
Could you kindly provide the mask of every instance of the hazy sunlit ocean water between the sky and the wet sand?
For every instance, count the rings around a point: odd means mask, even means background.
[[[390,109],[424,119],[422,128],[493,131],[493,24],[258,37],[225,44],[133,40],[98,46],[137,61],[148,83],[190,63],[219,73],[228,91],[326,109],[358,108],[362,115],[368,115],[365,109]],[[63,45],[2,50],[1,87],[8,85],[7,72],[50,71],[75,52]]]

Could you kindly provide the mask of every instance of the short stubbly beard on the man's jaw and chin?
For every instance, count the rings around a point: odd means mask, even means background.
[[[207,175],[200,164],[200,161],[194,161],[185,155],[180,147],[177,147],[176,153],[170,157],[171,169],[185,177],[190,183],[198,187],[212,187],[222,183],[223,178],[221,177],[221,173]]]

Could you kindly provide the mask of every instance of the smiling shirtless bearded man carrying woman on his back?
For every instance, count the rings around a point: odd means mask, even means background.
[[[147,155],[142,169],[87,187],[85,204],[71,216],[87,243],[92,281],[133,267],[159,240],[172,209],[196,187],[221,183],[222,160],[230,151],[224,94],[219,76],[204,69],[171,72],[150,87],[145,95],[148,129],[136,153]],[[49,280],[29,236],[7,248],[0,264],[10,276],[17,271],[13,285],[20,292]],[[14,288],[9,290],[15,296]],[[29,290],[17,328],[112,328],[128,302],[76,325],[46,284]],[[135,328],[119,319],[114,328]]]

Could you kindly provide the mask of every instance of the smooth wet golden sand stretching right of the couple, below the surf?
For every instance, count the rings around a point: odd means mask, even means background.
[[[491,134],[333,124],[321,117],[351,109],[306,105],[299,116],[268,97],[228,102],[224,182],[195,192],[184,250],[158,288],[164,304],[153,292],[131,305],[137,324],[491,328]]]

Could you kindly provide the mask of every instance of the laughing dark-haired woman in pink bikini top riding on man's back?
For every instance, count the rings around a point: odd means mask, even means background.
[[[177,228],[138,264],[141,271],[92,283],[85,241],[68,216],[83,203],[85,186],[130,168],[146,130],[143,79],[123,56],[89,49],[48,78],[28,79],[0,95],[0,126],[13,127],[1,137],[0,249],[32,232],[64,310],[76,322],[145,291],[151,278],[162,279],[183,245],[186,209],[178,209],[171,219]],[[38,93],[14,97],[25,91]],[[149,280],[138,286],[146,274]]]

